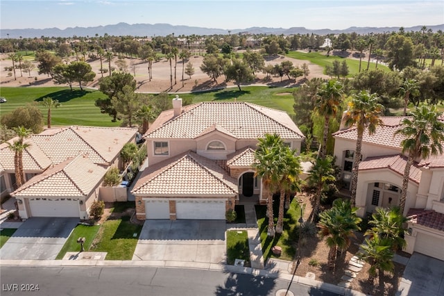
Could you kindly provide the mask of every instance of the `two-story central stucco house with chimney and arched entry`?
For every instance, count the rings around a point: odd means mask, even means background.
[[[266,133],[300,151],[304,136],[287,113],[245,102],[182,106],[176,97],[144,135],[148,168],[133,188],[137,219],[219,220],[239,199],[264,204],[253,163]]]

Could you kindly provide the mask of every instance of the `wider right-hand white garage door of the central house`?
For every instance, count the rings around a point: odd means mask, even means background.
[[[178,200],[177,219],[225,220],[225,200]]]

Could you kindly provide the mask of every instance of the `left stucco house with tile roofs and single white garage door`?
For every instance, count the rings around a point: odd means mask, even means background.
[[[135,129],[68,126],[48,129],[25,141],[25,181],[17,188],[14,152],[0,145],[1,195],[17,199],[20,217],[79,217],[89,206],[109,167],[121,170],[120,151],[135,141]],[[11,142],[14,139],[10,140]]]

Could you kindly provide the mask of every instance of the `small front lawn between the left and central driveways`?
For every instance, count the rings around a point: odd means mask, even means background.
[[[108,252],[106,260],[131,260],[142,225],[132,224],[129,220],[130,217],[122,217],[105,221],[96,236],[98,241],[90,251]]]

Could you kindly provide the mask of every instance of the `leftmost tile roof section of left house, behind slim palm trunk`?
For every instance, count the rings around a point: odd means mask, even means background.
[[[16,138],[8,142],[13,142]],[[52,162],[42,150],[35,145],[31,139],[26,139],[25,142],[30,146],[23,151],[23,168],[25,171],[39,171],[45,170]],[[15,170],[14,165],[14,151],[8,148],[8,145],[3,145],[0,149],[0,164],[3,170]]]

